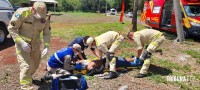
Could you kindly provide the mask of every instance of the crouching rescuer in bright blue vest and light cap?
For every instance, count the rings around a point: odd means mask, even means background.
[[[66,47],[54,53],[47,62],[47,73],[41,80],[51,80],[57,77],[70,75],[70,71],[75,69],[72,65],[74,55],[81,55],[81,46],[74,44],[72,47]]]

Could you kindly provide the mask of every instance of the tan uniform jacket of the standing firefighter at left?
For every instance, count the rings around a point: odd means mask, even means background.
[[[33,51],[41,45],[40,33],[43,32],[46,47],[49,46],[51,33],[50,17],[36,19],[31,9],[31,7],[18,9],[10,21],[8,31],[17,45],[25,41],[31,45]]]

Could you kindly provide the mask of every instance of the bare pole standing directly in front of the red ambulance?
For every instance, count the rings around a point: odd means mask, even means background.
[[[176,19],[176,31],[178,35],[178,41],[183,42],[184,32],[183,32],[183,25],[182,25],[182,15],[181,15],[181,7],[180,7],[180,0],[173,0],[174,5],[174,12],[175,12],[175,19]]]

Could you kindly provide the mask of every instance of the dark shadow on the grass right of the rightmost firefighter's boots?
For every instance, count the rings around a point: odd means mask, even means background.
[[[151,76],[152,74],[159,74],[161,76],[166,76],[172,73],[172,71],[168,68],[164,68],[164,67],[160,67],[160,66],[156,66],[156,65],[150,65],[149,67],[149,74],[148,76]]]

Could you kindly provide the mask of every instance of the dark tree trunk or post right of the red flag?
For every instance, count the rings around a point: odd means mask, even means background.
[[[137,10],[138,10],[138,1],[139,0],[134,0],[134,5],[133,5],[133,17],[132,17],[132,31],[135,32],[137,31]]]

